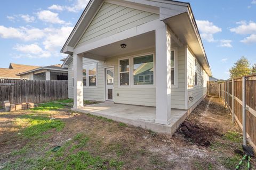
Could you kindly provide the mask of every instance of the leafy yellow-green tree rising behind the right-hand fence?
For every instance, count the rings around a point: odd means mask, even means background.
[[[243,77],[251,73],[250,62],[246,57],[241,57],[229,70],[230,78]]]

